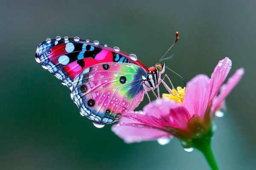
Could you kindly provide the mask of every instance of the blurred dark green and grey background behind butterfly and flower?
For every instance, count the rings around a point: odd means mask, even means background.
[[[40,42],[67,35],[117,45],[150,67],[175,31],[180,41],[167,65],[186,81],[210,76],[225,56],[233,61],[231,74],[245,68],[226,115],[215,119],[212,147],[222,170],[256,169],[255,9],[255,0],[1,0],[0,169],[208,169],[201,153],[183,151],[175,139],[166,146],[125,144],[110,125],[97,129],[79,114],[69,89],[35,62]]]

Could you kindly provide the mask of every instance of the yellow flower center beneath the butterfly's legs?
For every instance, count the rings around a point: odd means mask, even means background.
[[[172,94],[163,94],[163,99],[172,99],[178,103],[182,103],[184,99],[186,88],[177,87],[177,91],[172,89]]]

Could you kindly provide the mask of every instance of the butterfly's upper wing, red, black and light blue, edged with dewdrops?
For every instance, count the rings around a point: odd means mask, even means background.
[[[133,63],[147,71],[139,60],[134,61],[119,48],[65,37],[38,45],[35,59],[69,88],[82,71],[102,62]]]

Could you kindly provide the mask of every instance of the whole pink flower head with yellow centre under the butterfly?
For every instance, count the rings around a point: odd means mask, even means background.
[[[180,87],[177,88],[179,94],[174,91],[183,99],[164,94],[164,99],[151,102],[143,111],[125,113],[119,123],[113,125],[112,131],[127,143],[175,136],[188,144],[192,139],[212,136],[212,120],[216,111],[224,107],[224,99],[244,74],[244,69],[240,68],[227,84],[222,85],[231,65],[229,58],[222,59],[211,79],[199,74],[187,83],[186,92]],[[186,144],[183,146],[191,147]]]

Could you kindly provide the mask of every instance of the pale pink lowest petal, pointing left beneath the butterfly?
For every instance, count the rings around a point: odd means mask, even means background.
[[[170,137],[170,134],[154,127],[144,125],[132,119],[122,117],[111,130],[126,143],[157,140],[161,137]]]

